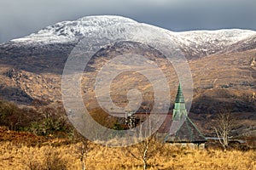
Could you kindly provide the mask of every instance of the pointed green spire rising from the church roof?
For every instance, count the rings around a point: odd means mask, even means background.
[[[172,114],[172,120],[173,121],[179,121],[183,116],[188,116],[185,100],[183,96],[183,88],[181,86],[181,83],[179,83],[177,88],[177,95],[175,99],[173,114]]]

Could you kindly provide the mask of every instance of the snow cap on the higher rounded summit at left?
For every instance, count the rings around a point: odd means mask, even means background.
[[[37,33],[14,39],[12,42],[73,42],[86,34],[100,32],[106,26],[119,26],[127,23],[138,24],[135,20],[120,16],[87,16],[79,20],[62,21],[53,26],[47,26]]]

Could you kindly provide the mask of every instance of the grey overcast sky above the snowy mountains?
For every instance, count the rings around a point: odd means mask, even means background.
[[[172,31],[256,31],[256,0],[0,0],[0,42],[62,20],[114,14]]]

